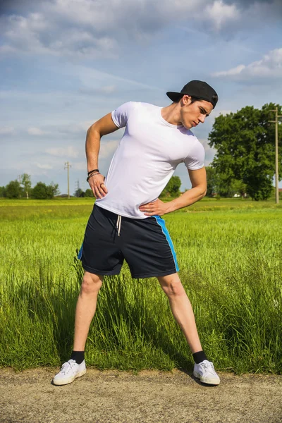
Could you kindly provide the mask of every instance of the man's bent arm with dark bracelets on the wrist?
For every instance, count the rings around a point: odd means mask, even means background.
[[[98,169],[98,156],[100,149],[100,140],[103,135],[113,133],[118,130],[118,127],[114,124],[111,114],[107,114],[99,121],[93,123],[87,130],[85,151],[87,158],[87,172],[94,169]],[[96,198],[102,198],[108,192],[104,185],[104,176],[97,174],[91,176],[88,181],[90,188]]]

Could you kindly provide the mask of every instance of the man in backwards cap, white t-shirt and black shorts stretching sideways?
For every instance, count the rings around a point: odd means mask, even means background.
[[[125,103],[87,131],[87,180],[97,200],[80,250],[85,274],[75,312],[73,353],[54,377],[56,385],[85,374],[85,343],[97,295],[105,275],[119,274],[123,259],[133,278],[158,278],[194,357],[195,377],[206,384],[220,382],[202,350],[192,307],[178,277],[173,244],[160,217],[206,194],[204,148],[190,128],[204,123],[218,97],[198,80],[188,82],[181,92],[166,94],[173,102],[169,106]],[[100,139],[123,127],[125,133],[104,178],[98,168]],[[158,197],[180,162],[188,168],[192,188],[164,203]]]

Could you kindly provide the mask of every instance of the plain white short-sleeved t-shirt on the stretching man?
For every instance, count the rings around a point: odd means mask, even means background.
[[[161,107],[128,102],[111,116],[125,133],[106,175],[108,193],[96,203],[121,216],[146,219],[140,205],[157,200],[181,162],[191,170],[202,168],[204,147],[183,125],[165,121]]]

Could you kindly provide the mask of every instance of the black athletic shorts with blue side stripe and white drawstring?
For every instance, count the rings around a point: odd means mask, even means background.
[[[97,205],[87,223],[78,258],[83,269],[102,276],[118,275],[124,259],[133,278],[178,271],[173,243],[161,217],[130,219]]]

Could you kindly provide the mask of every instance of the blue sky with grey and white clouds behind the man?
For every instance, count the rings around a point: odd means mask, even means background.
[[[87,128],[194,79],[219,94],[193,130],[209,165],[216,116],[282,103],[281,21],[281,0],[0,0],[0,185],[28,173],[66,193],[68,161],[71,193],[87,189]],[[102,138],[103,174],[122,135]]]

